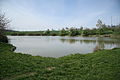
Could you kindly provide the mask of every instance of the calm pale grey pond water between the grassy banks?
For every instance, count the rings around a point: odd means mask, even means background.
[[[43,57],[62,57],[69,54],[86,54],[98,49],[120,47],[120,40],[99,37],[61,36],[8,36],[16,46],[15,52]]]

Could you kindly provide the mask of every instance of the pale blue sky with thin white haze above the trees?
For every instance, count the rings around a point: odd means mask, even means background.
[[[0,11],[19,31],[95,28],[98,19],[120,23],[120,0],[0,0]]]

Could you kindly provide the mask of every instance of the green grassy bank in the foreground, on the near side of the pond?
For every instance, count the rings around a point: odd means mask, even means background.
[[[15,53],[0,43],[0,80],[119,80],[120,49],[60,58]]]

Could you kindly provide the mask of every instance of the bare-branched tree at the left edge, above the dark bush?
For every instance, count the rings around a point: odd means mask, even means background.
[[[10,20],[5,17],[5,13],[0,13],[0,35],[4,35],[8,24],[10,23]]]

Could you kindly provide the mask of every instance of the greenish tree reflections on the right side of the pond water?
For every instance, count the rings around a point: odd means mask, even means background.
[[[99,51],[106,49],[106,45],[110,46],[111,48],[115,47],[120,47],[120,40],[119,39],[112,39],[112,38],[94,38],[94,39],[89,39],[89,38],[84,38],[84,39],[66,39],[66,38],[61,38],[61,42],[63,43],[70,43],[74,44],[76,42],[80,42],[81,44],[94,44],[95,47],[93,49],[93,52]]]

